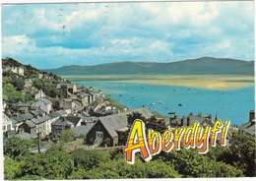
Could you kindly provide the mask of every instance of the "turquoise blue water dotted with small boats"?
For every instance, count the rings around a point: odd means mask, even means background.
[[[89,78],[68,78],[85,87],[94,87],[129,109],[147,106],[162,115],[179,117],[201,113],[211,114],[215,119],[230,121],[231,126],[240,126],[249,121],[249,111],[254,110],[254,87],[219,91],[166,85],[116,83]]]

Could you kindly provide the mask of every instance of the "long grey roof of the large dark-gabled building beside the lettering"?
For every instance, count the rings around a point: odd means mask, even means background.
[[[129,115],[133,112],[140,112],[142,114],[142,116],[144,116],[146,119],[153,116],[153,114],[147,107],[141,107],[141,108],[129,110],[126,112],[121,112],[119,114],[113,114],[113,115],[109,115],[109,116],[99,117],[99,121],[105,127],[108,134],[112,138],[114,138],[114,137],[118,136],[116,133],[116,130],[124,128],[128,125],[127,115]]]

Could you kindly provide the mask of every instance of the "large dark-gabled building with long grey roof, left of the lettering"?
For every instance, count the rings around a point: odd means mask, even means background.
[[[87,134],[87,143],[93,145],[106,145],[108,147],[119,146],[125,143],[123,140],[129,130],[127,116],[133,112],[139,112],[146,119],[153,116],[147,107],[141,107],[118,114],[99,117],[96,124]]]

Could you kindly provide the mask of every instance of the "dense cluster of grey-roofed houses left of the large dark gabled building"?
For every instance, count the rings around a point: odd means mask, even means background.
[[[58,84],[56,88],[61,92],[60,97],[46,97],[45,93],[39,90],[35,94],[34,102],[17,103],[16,115],[8,117],[3,112],[5,136],[16,134],[22,138],[35,138],[39,135],[41,139],[51,140],[64,129],[74,129],[74,135],[79,137],[82,134],[87,135],[89,128],[93,128],[99,120],[96,115],[100,114],[104,117],[113,112],[127,113],[127,108],[111,105],[105,101],[105,95],[101,91],[95,91],[94,88],[87,89],[76,84],[64,83]],[[95,142],[92,138],[89,140],[90,143]]]

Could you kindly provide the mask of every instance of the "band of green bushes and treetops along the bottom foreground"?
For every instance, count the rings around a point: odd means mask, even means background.
[[[207,154],[195,150],[163,152],[145,162],[124,160],[116,149],[110,153],[78,149],[68,153],[55,144],[45,153],[31,153],[32,142],[12,137],[4,143],[5,179],[110,179],[255,176],[255,142],[237,135],[229,147],[217,146]]]

